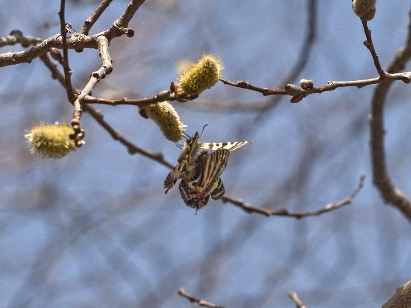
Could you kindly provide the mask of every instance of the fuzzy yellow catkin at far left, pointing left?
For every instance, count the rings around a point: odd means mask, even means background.
[[[76,149],[74,140],[69,135],[74,130],[66,123],[45,125],[40,123],[34,126],[24,137],[31,145],[30,152],[42,158],[59,159]]]

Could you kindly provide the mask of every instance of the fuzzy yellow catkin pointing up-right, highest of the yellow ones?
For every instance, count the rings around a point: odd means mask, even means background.
[[[181,89],[188,93],[201,93],[213,87],[221,78],[223,66],[221,59],[212,55],[203,55],[197,64],[193,64],[189,71],[180,75]]]

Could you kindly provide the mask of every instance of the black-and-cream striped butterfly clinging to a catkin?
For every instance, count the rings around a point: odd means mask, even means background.
[[[230,151],[253,141],[200,143],[199,133],[184,143],[178,164],[164,181],[165,193],[181,179],[179,189],[186,205],[199,209],[210,199],[221,198],[225,189],[220,179],[227,166]],[[212,152],[209,152],[212,151]]]

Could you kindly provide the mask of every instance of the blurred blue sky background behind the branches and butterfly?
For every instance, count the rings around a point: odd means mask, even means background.
[[[17,3],[0,0],[0,36],[59,31],[59,2]],[[306,33],[306,1],[160,4],[146,1],[129,25],[135,36],[111,42],[114,70],[95,96],[150,97],[176,80],[180,59],[195,62],[204,53],[221,57],[225,79],[284,87]],[[66,19],[77,30],[96,6],[68,2]],[[92,33],[110,27],[125,6],[111,4]],[[405,0],[377,3],[369,27],[383,67],[406,40],[409,9]],[[294,83],[376,77],[351,1],[320,0],[317,14],[315,43]],[[44,29],[45,22],[55,25]],[[78,88],[101,65],[97,50],[70,51],[69,59]],[[129,155],[86,113],[82,148],[61,160],[31,156],[26,130],[40,121],[69,122],[72,107],[39,60],[4,67],[0,78],[2,307],[188,307],[180,287],[226,307],[292,307],[289,291],[309,307],[379,307],[410,279],[409,221],[372,184],[373,86],[312,94],[298,104],[284,97],[264,115],[236,104],[271,97],[222,83],[198,100],[173,104],[187,133],[208,124],[202,142],[255,141],[230,155],[221,177],[227,194],[254,206],[320,209],[366,176],[352,204],[296,220],[247,214],[221,201],[195,215],[177,188],[163,193],[167,168]],[[388,171],[407,195],[409,93],[408,85],[393,86],[384,119]],[[180,149],[136,107],[97,107],[131,142],[177,161]]]

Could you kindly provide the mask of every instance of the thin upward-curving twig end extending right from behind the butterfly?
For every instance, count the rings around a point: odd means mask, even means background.
[[[321,214],[327,213],[329,211],[333,211],[336,209],[339,209],[340,207],[343,207],[347,204],[350,204],[352,199],[358,194],[358,192],[361,190],[364,184],[364,179],[365,177],[362,176],[360,179],[360,183],[358,184],[357,188],[347,197],[342,199],[341,201],[337,203],[329,203],[327,204],[324,208],[312,211],[312,212],[293,212],[290,213],[287,209],[268,209],[268,208],[258,208],[252,206],[250,203],[245,203],[240,199],[234,199],[228,195],[222,196],[222,201],[223,202],[230,202],[236,206],[241,207],[244,209],[247,213],[257,213],[257,214],[262,214],[267,217],[269,216],[287,216],[287,217],[294,217],[294,218],[304,218],[308,216],[319,216]]]

